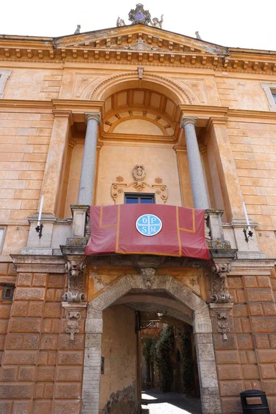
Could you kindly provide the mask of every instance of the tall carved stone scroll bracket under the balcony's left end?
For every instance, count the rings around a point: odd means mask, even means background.
[[[63,300],[65,302],[84,302],[86,295],[84,290],[84,270],[86,264],[83,260],[71,260],[66,264],[68,270],[68,292],[64,293]]]

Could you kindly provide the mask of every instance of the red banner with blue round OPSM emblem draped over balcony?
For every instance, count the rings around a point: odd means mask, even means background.
[[[86,255],[108,253],[209,259],[204,210],[160,204],[90,207]]]

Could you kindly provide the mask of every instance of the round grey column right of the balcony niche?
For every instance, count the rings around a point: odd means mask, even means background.
[[[205,183],[204,170],[201,164],[197,135],[195,133],[195,123],[197,118],[181,119],[181,127],[184,128],[186,137],[186,147],[190,171],[190,182],[193,190],[193,200],[195,208],[209,208],[208,193]]]

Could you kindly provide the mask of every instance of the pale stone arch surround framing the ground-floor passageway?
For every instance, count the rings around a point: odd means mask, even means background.
[[[215,366],[212,325],[208,305],[188,287],[170,275],[145,277],[126,275],[103,290],[88,304],[86,318],[86,343],[83,362],[82,414],[99,414],[99,384],[101,375],[102,311],[133,289],[163,290],[177,302],[190,308],[193,314],[193,333],[197,351],[201,406],[203,414],[220,414],[219,388]]]

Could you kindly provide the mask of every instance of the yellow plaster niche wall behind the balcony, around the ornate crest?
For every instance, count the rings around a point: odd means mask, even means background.
[[[98,205],[113,204],[110,195],[111,184],[116,183],[116,177],[124,178],[126,184],[135,181],[132,177],[132,169],[136,164],[144,165],[148,184],[155,184],[155,178],[163,180],[168,188],[167,204],[181,206],[181,195],[179,188],[179,176],[177,170],[177,157],[173,148],[153,146],[135,146],[135,144],[103,145],[99,154],[99,175],[97,182]],[[130,192],[133,190],[130,189]],[[148,188],[145,193],[154,193]],[[157,197],[157,203],[158,201]]]

